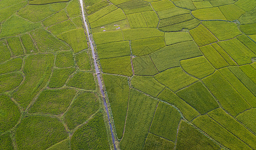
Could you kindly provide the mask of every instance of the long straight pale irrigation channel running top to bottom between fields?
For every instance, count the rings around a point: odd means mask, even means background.
[[[98,64],[97,64],[97,62],[96,62],[96,56],[95,56],[95,52],[94,52],[94,46],[93,46],[93,42],[92,42],[92,39],[91,39],[90,34],[89,34],[88,24],[87,24],[87,22],[86,22],[86,20],[85,20],[85,13],[84,13],[83,0],[80,0],[80,5],[81,5],[81,8],[82,8],[82,15],[83,15],[84,24],[85,24],[85,27],[86,27],[86,32],[87,32],[87,35],[88,35],[88,38],[89,38],[90,47],[91,47],[91,49],[92,49],[94,67],[95,67],[95,71],[96,71],[96,74],[97,74],[98,83],[99,83],[99,85],[100,85],[100,91],[101,91],[101,94],[102,94],[102,96],[103,96],[104,106],[105,106],[105,109],[106,109],[107,115],[108,115],[108,120],[109,120],[109,126],[110,126],[112,141],[113,141],[113,144],[114,144],[114,149],[116,150],[115,136],[114,136],[114,133],[113,133],[113,130],[112,130],[112,124],[111,124],[110,119],[109,119],[108,104],[107,104],[106,99],[105,99],[105,93],[104,93],[103,86],[102,86],[102,81],[101,81],[101,78],[100,78],[100,70],[99,70]]]

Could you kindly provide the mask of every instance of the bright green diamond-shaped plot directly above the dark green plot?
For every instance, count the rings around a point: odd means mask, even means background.
[[[167,69],[156,74],[154,77],[173,91],[177,91],[197,81],[196,78],[186,74],[180,67]]]

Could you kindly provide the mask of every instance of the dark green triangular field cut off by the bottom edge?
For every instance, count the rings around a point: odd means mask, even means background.
[[[192,125],[181,120],[177,136],[177,149],[219,149],[219,146]]]

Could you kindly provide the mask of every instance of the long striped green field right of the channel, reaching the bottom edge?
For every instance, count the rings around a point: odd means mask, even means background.
[[[120,148],[142,149],[144,147],[156,106],[157,100],[131,90],[125,132],[120,141]]]

